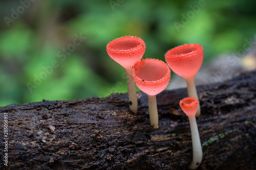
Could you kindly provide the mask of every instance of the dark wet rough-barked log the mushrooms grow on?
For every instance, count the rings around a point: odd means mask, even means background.
[[[197,88],[204,153],[199,169],[256,169],[256,72]],[[0,168],[186,169],[192,159],[191,135],[179,107],[186,96],[186,89],[157,96],[159,129],[150,126],[142,92],[137,116],[129,111],[126,93],[1,107],[1,130],[8,113],[9,162],[4,165],[1,142]]]

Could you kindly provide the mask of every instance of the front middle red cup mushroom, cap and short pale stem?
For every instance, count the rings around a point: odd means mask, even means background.
[[[162,92],[170,81],[170,69],[157,59],[144,59],[133,67],[133,79],[138,88],[148,96],[148,111],[151,125],[158,128],[156,95]]]

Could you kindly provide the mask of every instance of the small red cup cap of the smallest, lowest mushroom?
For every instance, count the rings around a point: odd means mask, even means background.
[[[180,107],[187,116],[196,116],[198,100],[196,98],[185,98],[180,101]]]

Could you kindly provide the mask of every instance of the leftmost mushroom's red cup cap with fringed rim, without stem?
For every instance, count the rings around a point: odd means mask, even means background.
[[[144,41],[134,36],[117,38],[106,45],[106,52],[109,56],[125,69],[131,68],[140,61],[145,50]]]

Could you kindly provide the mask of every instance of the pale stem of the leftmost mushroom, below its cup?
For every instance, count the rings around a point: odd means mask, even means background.
[[[127,85],[128,85],[128,96],[129,96],[129,105],[132,112],[137,115],[138,112],[138,101],[136,86],[133,80],[132,68],[125,69],[127,76]]]

